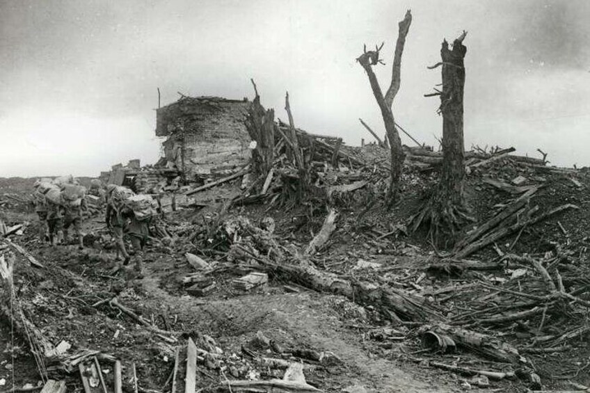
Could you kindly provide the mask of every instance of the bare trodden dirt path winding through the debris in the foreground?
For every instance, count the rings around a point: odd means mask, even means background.
[[[383,358],[363,344],[362,333],[346,328],[346,314],[359,316],[363,310],[341,296],[303,291],[278,293],[271,287],[263,293],[227,300],[207,300],[173,296],[161,289],[156,264],[146,264],[141,280],[147,297],[146,310],[169,307],[171,314],[184,319],[185,326],[211,335],[223,343],[225,351],[239,348],[262,332],[285,347],[330,351],[342,360],[334,374],[310,376],[312,382],[337,392],[456,392],[456,388],[433,385],[432,378],[412,364]],[[155,271],[154,271],[154,267]],[[270,355],[269,355],[270,356]],[[420,375],[422,374],[422,375]],[[440,382],[438,383],[440,384]],[[436,386],[436,387],[435,387]]]

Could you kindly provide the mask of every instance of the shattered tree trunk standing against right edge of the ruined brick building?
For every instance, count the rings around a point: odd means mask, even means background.
[[[260,95],[254,81],[252,81],[256,96],[246,120],[246,129],[256,147],[252,150],[252,168],[257,178],[266,179],[271,168],[273,168],[275,134],[273,109],[265,110],[260,104]]]

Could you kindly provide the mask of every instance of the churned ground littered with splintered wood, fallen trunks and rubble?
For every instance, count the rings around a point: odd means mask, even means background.
[[[150,242],[143,278],[111,275],[102,214],[85,220],[84,250],[42,243],[34,179],[2,179],[14,284],[1,287],[0,391],[51,379],[116,392],[119,367],[122,390],[150,393],[587,389],[586,170],[468,153],[475,222],[439,250],[408,223],[440,153],[406,150],[387,209],[387,150],[333,142],[316,150],[304,204],[280,160],[264,193],[248,195],[243,176],[192,193],[166,213],[171,241]]]

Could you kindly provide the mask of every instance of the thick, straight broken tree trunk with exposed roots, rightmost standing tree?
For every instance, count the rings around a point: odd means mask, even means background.
[[[463,89],[465,87],[465,66],[463,59],[467,48],[463,45],[467,32],[454,40],[449,49],[447,40],[442,41],[441,61],[432,67],[442,65],[442,90],[427,97],[440,96],[438,113],[442,113],[442,170],[438,186],[431,200],[415,217],[416,229],[421,223],[430,224],[430,234],[435,243],[448,246],[454,241],[456,230],[465,220],[471,220],[466,213],[463,198],[465,178],[465,147],[463,145]]]

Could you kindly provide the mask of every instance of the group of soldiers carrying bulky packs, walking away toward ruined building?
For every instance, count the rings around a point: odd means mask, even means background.
[[[69,229],[74,228],[77,244],[83,248],[82,220],[89,207],[86,188],[73,177],[40,179],[35,182],[33,202],[40,220],[40,238],[52,246],[70,243]],[[150,195],[138,194],[124,186],[109,184],[104,187],[93,180],[88,195],[97,198],[97,209],[106,206],[106,226],[115,243],[117,258],[129,264],[131,255],[125,246],[129,239],[135,259],[134,268],[143,271],[143,248],[150,239],[150,223],[161,213],[159,204]]]

